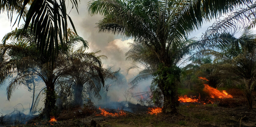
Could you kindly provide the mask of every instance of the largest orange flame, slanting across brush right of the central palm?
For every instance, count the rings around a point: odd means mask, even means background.
[[[222,92],[220,92],[220,90],[217,90],[216,88],[212,88],[208,84],[204,84],[203,91],[208,93],[212,98],[220,98],[220,99],[233,98],[233,96],[228,94],[225,90],[222,90]]]

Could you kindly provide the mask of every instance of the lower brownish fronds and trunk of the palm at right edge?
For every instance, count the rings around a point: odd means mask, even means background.
[[[224,70],[222,73],[229,74],[237,83],[244,86],[248,108],[252,109],[252,92],[256,85],[256,51],[243,51],[243,54],[235,57],[232,62],[222,65],[220,69]]]

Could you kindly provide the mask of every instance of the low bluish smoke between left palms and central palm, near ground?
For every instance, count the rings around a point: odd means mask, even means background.
[[[128,83],[136,76],[129,80],[127,80],[127,77],[124,76],[121,72],[117,72],[115,76],[117,77],[117,80],[108,79],[105,81],[105,87],[101,88],[100,91],[101,100],[93,99],[93,102],[101,108],[113,108],[131,111],[131,109],[126,106],[126,103],[138,104],[138,100],[141,97],[146,98],[147,95],[141,95],[140,92],[150,91],[149,86],[151,85],[151,80],[142,81],[138,84],[138,87],[136,87],[134,90],[131,90],[131,85],[128,85]],[[131,96],[136,97],[131,97],[131,100],[128,98],[126,102],[126,98],[124,96],[124,92],[126,90],[130,90],[132,92]]]

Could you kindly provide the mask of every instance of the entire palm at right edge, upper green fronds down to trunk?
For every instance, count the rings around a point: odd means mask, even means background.
[[[233,83],[244,86],[248,107],[252,109],[252,91],[255,87],[256,76],[256,35],[245,29],[239,38],[221,52],[212,51],[219,63],[216,73],[222,78],[229,77]],[[206,65],[207,66],[207,65]]]

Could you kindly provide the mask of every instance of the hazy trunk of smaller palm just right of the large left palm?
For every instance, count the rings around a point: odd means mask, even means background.
[[[83,85],[81,83],[77,83],[74,90],[75,106],[81,107],[83,105],[82,92],[83,92]]]

